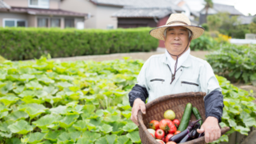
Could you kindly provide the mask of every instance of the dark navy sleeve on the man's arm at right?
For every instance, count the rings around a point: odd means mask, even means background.
[[[222,122],[223,95],[219,90],[213,90],[205,98],[206,118],[209,116],[218,118],[218,123]]]

